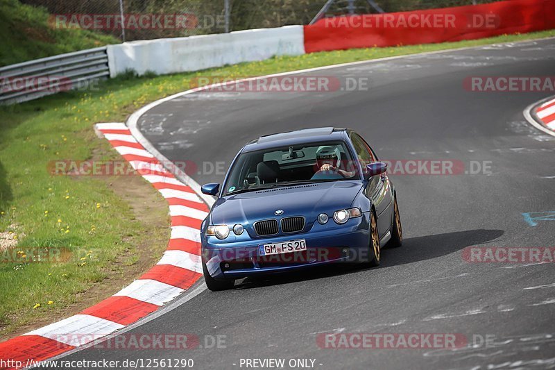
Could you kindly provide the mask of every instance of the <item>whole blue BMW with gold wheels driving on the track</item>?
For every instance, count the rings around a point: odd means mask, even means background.
[[[400,246],[387,165],[355,131],[309,128],[259,137],[234,158],[200,228],[206,285],[320,264],[379,264]]]

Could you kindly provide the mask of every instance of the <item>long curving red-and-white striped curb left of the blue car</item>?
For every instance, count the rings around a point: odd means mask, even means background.
[[[172,301],[203,274],[200,224],[209,210],[206,203],[164,169],[125,124],[96,124],[96,129],[169,203],[168,249],[152,269],[110,298],[72,317],[0,343],[0,369],[29,367],[31,360],[46,360],[110,335]]]

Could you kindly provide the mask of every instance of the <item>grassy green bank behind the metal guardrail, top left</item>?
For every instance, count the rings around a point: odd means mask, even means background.
[[[0,40],[0,66],[119,43],[102,33],[56,28],[44,8],[17,0],[0,1]]]

